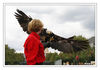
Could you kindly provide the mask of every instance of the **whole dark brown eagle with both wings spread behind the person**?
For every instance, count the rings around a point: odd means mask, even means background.
[[[15,12],[15,17],[18,20],[20,26],[22,27],[23,31],[29,34],[27,28],[28,23],[32,20],[31,16],[27,16],[23,11],[17,9]],[[74,40],[74,36],[70,38],[63,38],[54,34],[48,29],[43,28],[40,33],[40,40],[44,43],[50,43],[48,47],[53,49],[57,49],[63,53],[73,53],[78,52],[84,49],[87,49],[89,46],[88,40]]]

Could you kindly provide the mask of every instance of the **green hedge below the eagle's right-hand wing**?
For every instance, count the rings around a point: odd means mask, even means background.
[[[73,64],[76,64],[77,60],[75,59],[76,56],[79,56],[78,62],[90,62],[95,61],[95,48],[89,48],[87,50],[78,52],[78,53],[60,53],[59,55],[57,53],[48,53],[46,55],[46,61],[54,62],[58,59],[62,59],[63,62],[70,62]]]

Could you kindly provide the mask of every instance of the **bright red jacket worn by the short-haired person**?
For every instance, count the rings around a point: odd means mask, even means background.
[[[40,42],[40,36],[32,32],[24,43],[24,53],[28,65],[45,61],[44,46]]]

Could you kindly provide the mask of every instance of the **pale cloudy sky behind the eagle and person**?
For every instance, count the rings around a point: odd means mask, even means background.
[[[61,37],[82,35],[88,39],[95,36],[94,5],[6,6],[5,43],[16,52],[24,53],[23,44],[28,37],[14,16],[16,9],[22,10],[33,19],[40,19],[44,28]],[[49,51],[59,52],[52,48]]]

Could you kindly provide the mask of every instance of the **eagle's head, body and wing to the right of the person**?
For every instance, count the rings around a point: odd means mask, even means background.
[[[57,49],[64,53],[72,53],[89,48],[88,40],[75,40],[75,36],[63,38],[54,34],[53,32],[48,33],[46,30],[47,29],[44,29],[40,36],[41,38],[44,38],[42,39],[43,42],[51,42],[50,47],[53,49]]]

